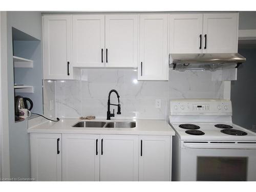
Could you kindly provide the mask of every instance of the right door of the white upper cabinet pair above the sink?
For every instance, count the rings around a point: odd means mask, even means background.
[[[138,15],[105,16],[106,67],[138,66]]]

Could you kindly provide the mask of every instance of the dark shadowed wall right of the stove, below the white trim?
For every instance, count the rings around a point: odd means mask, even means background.
[[[256,49],[239,49],[246,58],[238,68],[238,80],[231,81],[234,123],[251,129],[256,125]]]

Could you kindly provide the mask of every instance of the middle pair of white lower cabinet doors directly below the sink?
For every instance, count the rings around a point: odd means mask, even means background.
[[[138,136],[63,134],[63,181],[138,181]]]

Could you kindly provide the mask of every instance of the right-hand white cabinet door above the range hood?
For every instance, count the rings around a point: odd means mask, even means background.
[[[238,13],[203,14],[203,53],[238,52]]]

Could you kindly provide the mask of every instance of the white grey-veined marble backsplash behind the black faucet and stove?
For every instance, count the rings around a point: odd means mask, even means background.
[[[137,70],[81,70],[81,80],[45,80],[44,113],[105,118],[112,89],[118,91],[121,103],[121,115],[115,114],[115,118],[165,119],[169,99],[223,98],[224,87],[223,81],[212,80],[209,71],[169,69],[169,81],[137,81]],[[155,107],[156,99],[161,99],[161,108]],[[55,101],[53,110],[50,100]],[[115,93],[111,103],[117,103]]]

